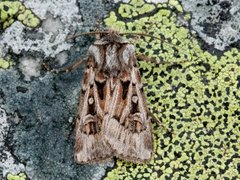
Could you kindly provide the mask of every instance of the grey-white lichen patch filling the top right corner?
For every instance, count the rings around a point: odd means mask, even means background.
[[[209,45],[224,50],[239,41],[239,0],[182,0],[182,5],[192,14],[192,29]]]

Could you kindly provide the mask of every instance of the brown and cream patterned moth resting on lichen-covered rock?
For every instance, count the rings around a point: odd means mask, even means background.
[[[114,156],[134,163],[149,161],[151,117],[135,48],[116,31],[101,35],[85,59],[74,159],[79,164],[101,163]],[[81,62],[76,64],[68,70]]]

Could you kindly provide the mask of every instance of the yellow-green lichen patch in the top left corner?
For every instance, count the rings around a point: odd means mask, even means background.
[[[40,19],[19,1],[0,2],[0,27],[6,29],[17,19],[27,27],[40,25]]]

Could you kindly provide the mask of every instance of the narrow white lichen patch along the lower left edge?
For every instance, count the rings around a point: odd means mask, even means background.
[[[5,145],[5,137],[8,133],[9,124],[7,122],[7,115],[4,109],[0,108],[0,169],[3,171],[3,177],[8,172],[18,174],[21,171],[25,171],[23,164],[16,163],[11,153],[8,151]]]

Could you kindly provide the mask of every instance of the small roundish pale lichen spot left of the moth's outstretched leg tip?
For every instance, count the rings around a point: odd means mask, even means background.
[[[41,62],[40,58],[33,58],[31,56],[22,57],[19,59],[19,68],[24,74],[24,80],[30,81],[31,77],[40,76]]]

